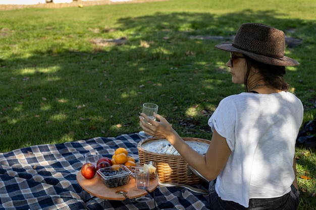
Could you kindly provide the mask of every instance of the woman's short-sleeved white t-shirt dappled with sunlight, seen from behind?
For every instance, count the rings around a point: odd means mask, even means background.
[[[289,92],[224,98],[208,120],[231,150],[216,182],[221,199],[248,207],[250,198],[288,193],[295,178],[295,141],[302,120],[303,105]]]

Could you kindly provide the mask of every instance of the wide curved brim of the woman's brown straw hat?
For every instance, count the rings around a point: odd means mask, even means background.
[[[257,60],[262,63],[270,64],[270,65],[282,65],[282,66],[299,65],[298,61],[287,56],[283,56],[281,58],[269,57],[266,55],[261,55],[261,54],[257,54],[253,52],[248,52],[246,50],[238,49],[236,47],[233,47],[232,43],[217,44],[215,45],[215,47],[218,49],[229,51],[229,52],[240,52],[251,57],[254,60]]]

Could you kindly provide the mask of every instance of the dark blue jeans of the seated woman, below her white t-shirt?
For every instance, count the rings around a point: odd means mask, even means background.
[[[233,201],[222,200],[215,190],[216,180],[209,182],[209,203],[212,210],[297,210],[298,194],[292,185],[291,191],[276,198],[251,198],[246,208]]]

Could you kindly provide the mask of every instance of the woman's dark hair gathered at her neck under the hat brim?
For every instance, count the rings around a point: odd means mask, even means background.
[[[247,64],[245,81],[244,81],[246,92],[248,92],[247,82],[248,82],[248,77],[250,74],[251,67],[259,71],[264,81],[268,85],[282,91],[287,91],[289,89],[289,84],[287,84],[283,79],[283,75],[285,75],[286,73],[285,66],[270,65],[270,64],[256,61],[245,54],[243,54],[243,56],[246,58],[246,64]]]

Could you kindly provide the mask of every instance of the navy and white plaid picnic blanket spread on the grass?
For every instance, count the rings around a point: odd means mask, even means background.
[[[153,199],[136,202],[103,200],[82,190],[76,175],[84,154],[97,151],[111,158],[119,147],[138,161],[138,133],[95,137],[56,145],[37,145],[0,153],[0,209],[155,209]],[[195,185],[207,189],[207,183]],[[157,209],[208,209],[207,195],[183,187],[157,187],[149,193]]]

